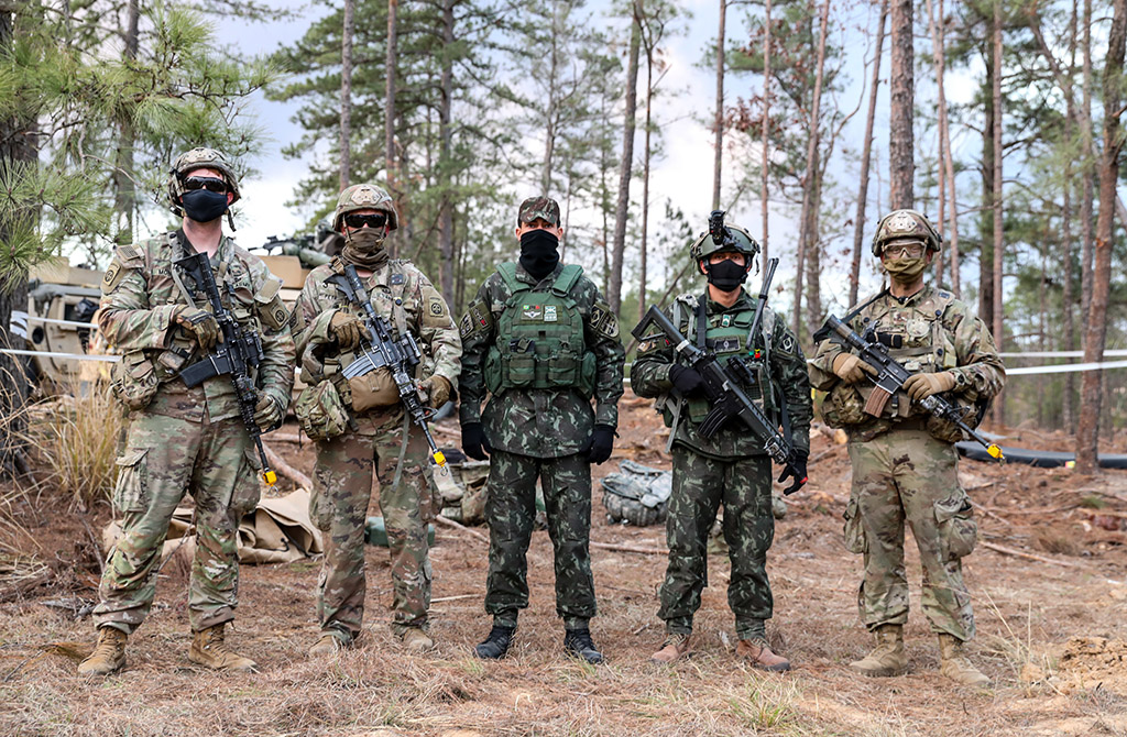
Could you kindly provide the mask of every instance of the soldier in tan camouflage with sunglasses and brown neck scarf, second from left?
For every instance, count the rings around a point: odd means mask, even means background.
[[[399,225],[380,187],[353,185],[340,193],[332,227],[344,237],[340,256],[309,275],[298,300],[298,352],[309,388],[295,410],[317,441],[310,516],[325,531],[325,566],[318,584],[321,637],[314,657],[350,646],[364,616],[364,524],[372,473],[380,481],[380,508],[391,553],[392,631],[405,648],[434,647],[428,634],[431,560],[427,524],[438,507],[426,437],[403,409],[391,372],[381,368],[346,379],[367,329],[360,305],[337,288],[346,265],[369,290],[376,314],[398,336],[410,334],[423,350],[415,379],[431,407],[450,398],[461,371],[462,343],[445,300],[418,268],[392,259],[384,248]]]

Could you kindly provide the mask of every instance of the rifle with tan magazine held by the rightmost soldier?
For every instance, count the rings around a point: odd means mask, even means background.
[[[869,328],[866,336],[862,337],[837,317],[831,314],[826,318],[823,326],[818,328],[818,331],[814,334],[815,343],[822,343],[826,338],[854,350],[862,361],[877,370],[877,375],[870,376],[872,383],[876,384],[876,389],[869,394],[869,399],[864,403],[864,411],[873,417],[880,417],[888,400],[897,390],[904,387],[904,382],[912,375],[912,372],[888,355],[888,348],[876,339],[872,328]],[[940,394],[932,394],[916,403],[932,416],[953,423],[959,429],[982,444],[991,458],[999,461],[1005,460],[1001,447],[987,441],[962,420],[962,411],[955,402]]]

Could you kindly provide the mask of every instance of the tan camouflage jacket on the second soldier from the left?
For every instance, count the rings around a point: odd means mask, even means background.
[[[310,273],[294,308],[294,336],[302,381],[316,383],[330,379],[341,394],[347,396],[347,380],[339,372],[355,354],[340,354],[329,325],[339,311],[360,318],[364,313],[329,281],[337,274],[344,274],[344,263],[339,257]],[[361,278],[369,288],[375,313],[387,319],[397,334],[410,334],[418,341],[423,357],[415,368],[415,378],[421,381],[437,374],[458,389],[462,340],[446,301],[423,272],[406,259],[391,259],[366,279]],[[402,405],[394,405],[367,410],[353,419],[361,434],[372,435],[397,421],[401,423],[402,415]]]

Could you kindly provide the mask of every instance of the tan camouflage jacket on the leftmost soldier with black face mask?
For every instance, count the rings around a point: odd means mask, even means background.
[[[206,295],[172,261],[195,252],[183,230],[141,243],[122,246],[101,281],[98,328],[103,338],[124,354],[126,363],[142,356],[156,367],[159,389],[144,411],[181,419],[219,421],[239,416],[239,402],[229,375],[213,376],[188,388],[178,378],[181,368],[204,358],[195,340],[172,321],[172,312],[188,304],[176,278],[192,291],[196,307],[211,311]],[[224,236],[212,260],[220,298],[236,321],[259,335],[263,358],[257,385],[283,407],[293,387],[294,346],[291,316],[282,303],[282,282],[261,259]],[[233,288],[234,299],[225,284]]]

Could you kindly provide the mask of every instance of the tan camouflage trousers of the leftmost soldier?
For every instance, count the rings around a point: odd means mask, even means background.
[[[157,592],[168,525],[185,490],[196,509],[188,584],[192,629],[234,619],[239,520],[258,503],[260,468],[242,420],[212,424],[136,415],[117,465],[114,508],[124,515],[122,536],[106,562],[95,623],[132,633],[144,621]]]

